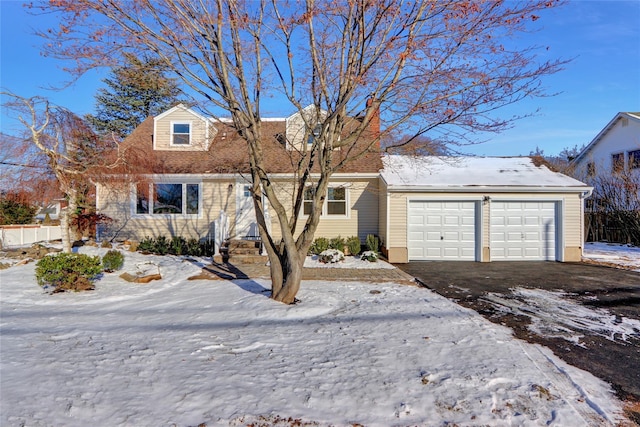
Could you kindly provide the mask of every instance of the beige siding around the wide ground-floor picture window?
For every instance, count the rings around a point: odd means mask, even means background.
[[[178,180],[179,181],[179,180]],[[177,182],[177,181],[176,181]],[[97,186],[98,212],[113,218],[115,222],[105,228],[104,238],[116,240],[140,240],[146,236],[182,236],[184,238],[207,238],[213,232],[213,222],[224,210],[229,217],[235,215],[235,190],[233,180],[205,180],[202,182],[202,215],[198,218],[167,215],[157,217],[132,215],[131,191],[129,189],[107,189]],[[233,221],[230,222],[233,227]]]

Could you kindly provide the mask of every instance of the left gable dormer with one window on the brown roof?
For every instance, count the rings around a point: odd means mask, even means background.
[[[217,134],[213,121],[178,104],[153,119],[153,149],[206,151]]]

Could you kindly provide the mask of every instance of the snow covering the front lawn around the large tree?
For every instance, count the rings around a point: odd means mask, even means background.
[[[1,425],[621,419],[603,381],[424,288],[306,281],[286,306],[265,281],[188,281],[197,263],[125,255],[163,279],[48,295],[34,263],[0,271]]]

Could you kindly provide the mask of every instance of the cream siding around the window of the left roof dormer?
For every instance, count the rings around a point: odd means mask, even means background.
[[[191,123],[191,145],[175,146],[171,145],[171,122],[187,122]],[[209,127],[209,135],[207,135],[206,122],[201,117],[193,113],[175,108],[166,115],[160,115],[156,118],[155,131],[153,136],[153,144],[155,150],[174,150],[174,151],[202,151],[208,147],[208,139],[215,136],[213,126]],[[207,138],[208,137],[208,138]]]

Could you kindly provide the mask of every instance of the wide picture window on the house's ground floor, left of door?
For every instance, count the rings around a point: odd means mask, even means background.
[[[198,215],[200,184],[138,184],[136,214]]]

